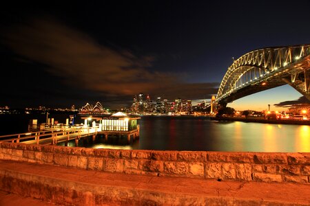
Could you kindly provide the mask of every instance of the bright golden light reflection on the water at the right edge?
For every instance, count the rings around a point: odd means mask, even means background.
[[[299,126],[296,137],[297,150],[300,152],[310,152],[310,126]]]

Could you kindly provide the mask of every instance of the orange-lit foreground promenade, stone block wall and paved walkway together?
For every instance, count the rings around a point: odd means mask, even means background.
[[[1,143],[0,190],[59,205],[310,205],[310,153]]]

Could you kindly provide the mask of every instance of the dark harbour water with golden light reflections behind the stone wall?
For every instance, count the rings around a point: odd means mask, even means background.
[[[0,135],[27,132],[28,119],[45,122],[45,115],[0,115]],[[54,117],[59,122],[68,118]],[[76,118],[76,123],[79,117]],[[208,117],[145,116],[138,120],[140,138],[98,136],[79,146],[137,150],[207,150],[242,152],[310,152],[310,126],[216,122]],[[74,141],[68,146],[74,146]]]

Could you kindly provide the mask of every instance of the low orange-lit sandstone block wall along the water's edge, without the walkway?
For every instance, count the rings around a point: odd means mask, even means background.
[[[1,143],[0,159],[126,174],[310,183],[310,153],[109,150]]]

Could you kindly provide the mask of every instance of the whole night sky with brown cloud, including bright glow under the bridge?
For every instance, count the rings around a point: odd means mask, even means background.
[[[0,106],[120,108],[140,92],[199,102],[217,93],[232,57],[310,43],[310,1],[27,3],[0,9]],[[284,86],[231,106],[300,96]]]

